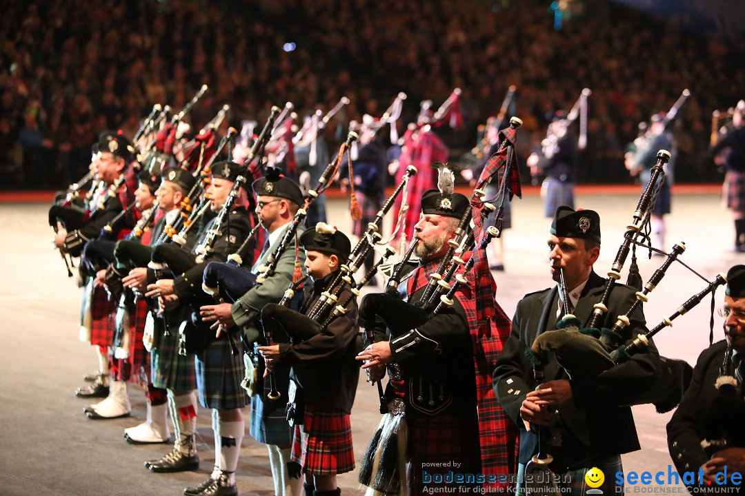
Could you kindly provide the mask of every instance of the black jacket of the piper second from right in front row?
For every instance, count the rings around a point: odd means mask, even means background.
[[[592,272],[574,309],[574,315],[588,323],[593,305],[600,301],[606,280]],[[528,391],[538,384],[533,379],[533,366],[524,350],[542,332],[555,329],[557,286],[527,294],[519,301],[510,338],[504,345],[494,371],[493,386],[504,410],[521,426],[519,462],[527,463],[538,448],[538,436],[531,429],[525,431],[520,419],[520,407]],[[624,315],[635,300],[635,292],[628,286],[615,285],[607,305],[603,327],[611,327],[618,315]],[[624,329],[626,341],[646,332],[641,306],[630,317]],[[621,454],[639,449],[638,438],[630,405],[638,402],[639,392],[653,381],[659,356],[650,341],[644,352],[633,355],[630,361],[618,364],[595,377],[571,379],[573,399],[555,406],[557,414],[550,422],[554,444],[548,451],[554,455],[554,471],[583,466],[584,460],[603,454]],[[544,370],[543,381],[569,379],[551,353]],[[555,423],[554,423],[555,422]],[[560,438],[560,442],[559,442]]]

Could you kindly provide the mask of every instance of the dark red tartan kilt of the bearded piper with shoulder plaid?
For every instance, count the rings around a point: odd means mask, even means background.
[[[410,494],[425,494],[426,488],[467,487],[463,483],[435,483],[434,474],[442,474],[444,478],[448,472],[481,473],[475,408],[463,408],[454,402],[437,415],[426,415],[407,405],[405,419],[409,429],[407,479]],[[454,462],[460,466],[454,466]]]

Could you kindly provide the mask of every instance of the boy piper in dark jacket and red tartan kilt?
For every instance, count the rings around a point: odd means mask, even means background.
[[[292,460],[305,474],[305,495],[340,495],[336,476],[355,468],[349,413],[355,400],[359,367],[355,363],[358,337],[357,300],[343,283],[337,303],[316,310],[321,293],[333,292],[332,280],[351,251],[349,238],[319,222],[302,233],[305,268],[313,283],[307,285],[299,315],[276,305],[261,312],[265,326],[282,324],[290,343],[259,347],[267,368],[277,362],[291,365],[290,380],[297,387],[295,404],[304,402],[305,413],[295,410]],[[346,303],[346,312],[323,326],[334,307]],[[311,322],[308,316],[315,322]],[[299,325],[297,325],[299,324]],[[295,329],[312,329],[299,335]],[[291,389],[293,384],[291,384]]]

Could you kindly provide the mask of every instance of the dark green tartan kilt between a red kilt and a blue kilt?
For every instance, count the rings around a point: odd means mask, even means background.
[[[160,333],[157,347],[150,352],[153,386],[174,391],[191,391],[197,387],[194,355],[179,355],[179,335],[171,331],[163,335],[162,320],[156,319],[156,333]]]

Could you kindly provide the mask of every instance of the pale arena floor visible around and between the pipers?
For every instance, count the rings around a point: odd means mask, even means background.
[[[637,200],[630,194],[578,196],[577,206],[597,210],[602,219],[603,249],[596,265],[600,274],[609,269]],[[340,200],[329,205],[331,222],[348,226],[346,205]],[[145,398],[138,388],[130,387],[132,418],[90,421],[83,416],[87,404],[72,393],[82,384],[81,375],[97,364],[92,348],[77,340],[80,289],[66,277],[62,260],[52,250],[47,209],[48,204],[0,204],[0,495],[180,494],[212,469],[209,411],[199,412],[200,471],[180,474],[152,474],[142,466],[165,454],[168,445],[133,446],[122,438],[124,428],[145,416]],[[513,228],[504,235],[507,270],[495,273],[497,299],[509,315],[523,294],[551,285],[545,245],[549,220],[541,212],[538,196],[514,201]],[[682,260],[704,277],[745,263],[744,256],[732,253],[732,237],[731,216],[717,195],[674,195],[667,244],[685,241],[688,250]],[[658,263],[641,262],[645,280]],[[650,326],[704,286],[703,280],[674,265],[645,306]],[[717,305],[722,294],[717,294]],[[660,352],[693,364],[708,346],[708,306],[708,301],[702,303],[662,331],[656,338]],[[721,319],[714,320],[714,334],[720,339]],[[642,448],[624,455],[624,469],[667,473],[671,460],[665,423],[671,413],[659,415],[651,406],[635,408],[634,413]],[[352,411],[358,458],[378,421],[375,389],[361,380]],[[356,472],[339,479],[346,494],[361,492]],[[238,464],[238,488],[241,495],[273,494],[267,451],[249,436]]]

